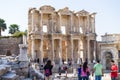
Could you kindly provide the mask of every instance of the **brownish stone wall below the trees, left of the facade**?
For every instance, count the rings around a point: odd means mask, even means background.
[[[19,44],[22,42],[22,37],[19,38],[0,38],[0,55],[19,54]]]

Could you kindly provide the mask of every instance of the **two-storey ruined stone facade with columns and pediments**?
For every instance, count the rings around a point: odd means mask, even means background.
[[[45,5],[28,12],[28,53],[32,60],[43,63],[48,58],[61,64],[68,59],[73,63],[79,58],[89,62],[96,59],[95,13],[51,8]]]

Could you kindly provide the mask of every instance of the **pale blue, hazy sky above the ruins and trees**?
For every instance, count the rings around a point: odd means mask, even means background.
[[[101,35],[120,33],[120,0],[0,0],[0,18],[7,24],[7,30],[2,35],[8,35],[10,24],[18,24],[20,31],[28,28],[28,10],[31,7],[39,9],[43,5],[51,5],[57,10],[69,7],[71,11],[86,10],[96,12],[97,39]]]

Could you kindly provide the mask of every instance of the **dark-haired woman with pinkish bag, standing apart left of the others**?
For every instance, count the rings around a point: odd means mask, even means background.
[[[52,68],[51,60],[48,60],[44,66],[45,80],[52,80]]]

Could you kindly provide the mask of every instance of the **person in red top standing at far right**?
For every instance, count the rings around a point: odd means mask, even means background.
[[[118,66],[114,60],[111,60],[111,80],[117,80],[118,78]]]

